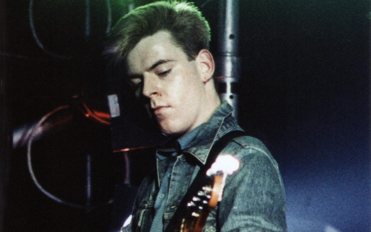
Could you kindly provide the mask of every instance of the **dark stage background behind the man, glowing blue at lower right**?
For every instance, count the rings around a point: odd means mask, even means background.
[[[136,6],[148,2],[134,1]],[[266,144],[279,163],[289,231],[371,231],[370,3],[240,2],[239,122]],[[0,187],[6,193],[1,196],[3,231],[115,227],[111,218],[116,202],[110,200],[115,185],[125,179],[125,159],[122,153],[111,152],[110,127],[84,117],[81,102],[73,96],[83,92],[78,99],[108,112],[105,95],[112,83],[107,81],[101,52],[107,27],[127,12],[128,4],[1,1],[1,117],[7,122],[1,135],[6,138],[56,107],[70,105],[53,115],[68,118],[66,123],[33,143],[32,162],[45,189],[83,206],[71,208],[43,195],[27,170],[26,147],[17,147],[1,154]],[[219,3],[198,0],[195,4],[210,22],[210,50],[217,55]],[[90,205],[86,201],[88,154]],[[144,151],[128,156],[131,183],[136,186],[152,168],[151,156]]]

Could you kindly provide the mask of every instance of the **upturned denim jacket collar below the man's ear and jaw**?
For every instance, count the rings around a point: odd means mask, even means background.
[[[233,108],[227,101],[223,101],[209,120],[201,125],[194,139],[183,151],[205,164],[213,144],[229,131],[239,129],[236,120],[232,116],[232,111]]]

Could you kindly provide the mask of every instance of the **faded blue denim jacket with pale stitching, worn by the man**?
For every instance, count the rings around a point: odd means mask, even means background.
[[[201,125],[183,154],[175,160],[163,217],[164,228],[187,192],[197,171],[206,162],[213,144],[224,134],[242,130],[232,116],[232,107],[223,102]],[[220,154],[231,154],[240,161],[239,169],[228,176],[223,198],[211,210],[204,232],[286,231],[285,192],[278,164],[264,144],[241,136],[231,140]],[[148,232],[154,217],[154,202],[166,171],[157,160],[157,173],[147,176],[138,190],[132,220],[122,231]]]

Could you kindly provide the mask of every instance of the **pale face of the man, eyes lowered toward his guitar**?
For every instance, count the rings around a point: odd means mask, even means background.
[[[144,37],[127,56],[128,76],[142,94],[164,134],[183,135],[207,120],[206,93],[196,61],[175,45],[171,34]]]

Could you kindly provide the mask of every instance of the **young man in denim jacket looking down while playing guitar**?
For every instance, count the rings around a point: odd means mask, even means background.
[[[174,230],[167,227],[213,145],[230,131],[242,131],[232,107],[217,95],[209,41],[210,27],[201,13],[177,1],[138,7],[112,30],[107,52],[125,65],[162,133],[177,144],[157,150],[157,173],[141,184],[123,231]],[[282,179],[266,147],[239,136],[219,154],[232,154],[240,167],[227,177],[223,199],[204,231],[286,231]]]

